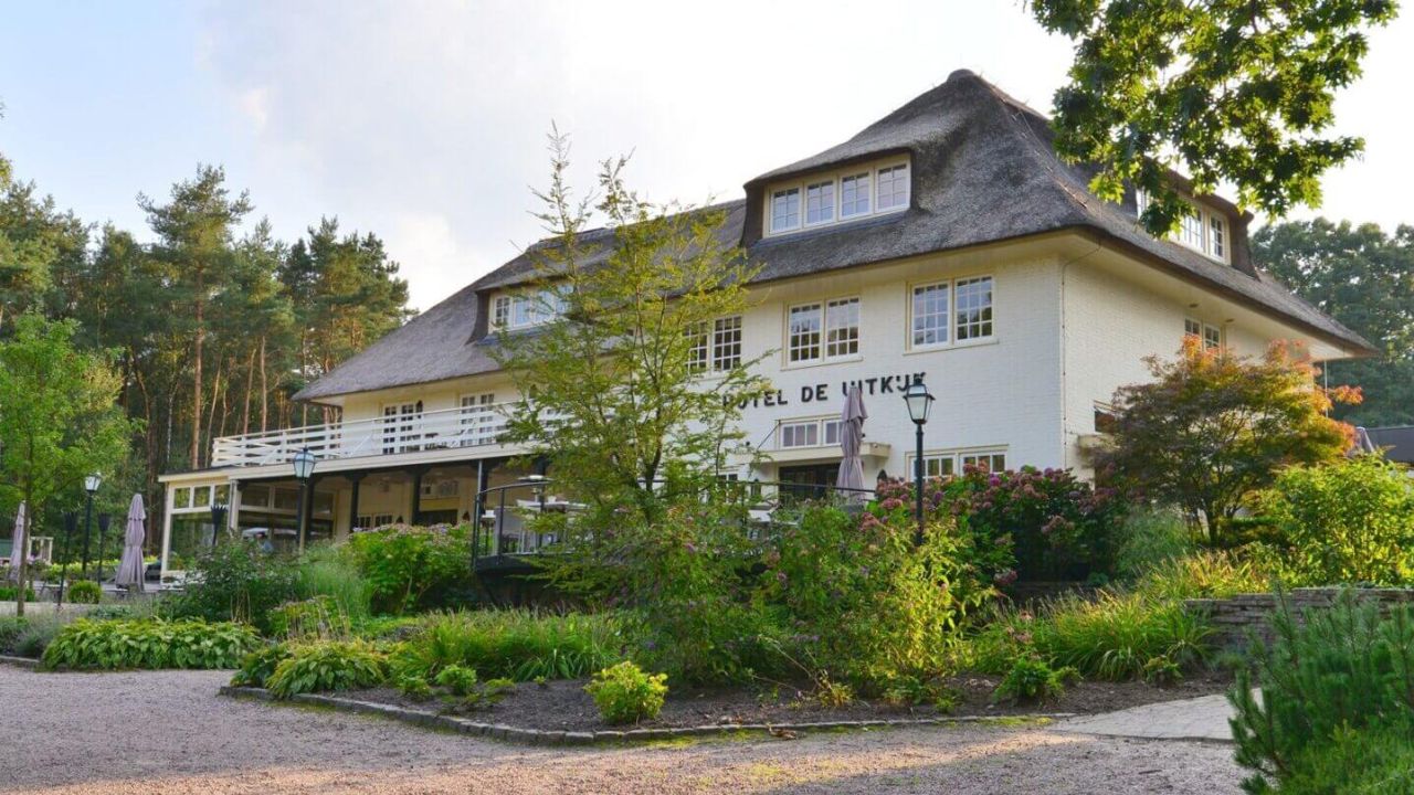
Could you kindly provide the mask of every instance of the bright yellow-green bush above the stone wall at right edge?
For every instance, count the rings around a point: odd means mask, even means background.
[[[1294,586],[1414,583],[1414,491],[1377,455],[1292,467],[1260,499]]]

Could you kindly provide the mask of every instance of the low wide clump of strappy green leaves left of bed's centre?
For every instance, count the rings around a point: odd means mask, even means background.
[[[614,614],[441,613],[423,620],[392,665],[397,676],[427,680],[452,665],[516,682],[581,679],[621,659],[619,635]]]

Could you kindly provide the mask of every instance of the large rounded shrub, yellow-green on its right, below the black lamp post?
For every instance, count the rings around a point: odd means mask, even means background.
[[[795,656],[816,682],[878,692],[947,668],[963,617],[991,590],[966,569],[952,519],[935,518],[922,546],[915,528],[896,498],[860,519],[816,508],[768,552],[765,597],[796,622]]]

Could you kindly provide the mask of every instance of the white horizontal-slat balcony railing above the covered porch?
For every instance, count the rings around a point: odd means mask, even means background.
[[[266,433],[222,436],[212,444],[212,467],[283,464],[308,447],[317,458],[397,455],[496,444],[505,430],[505,403],[464,406]]]

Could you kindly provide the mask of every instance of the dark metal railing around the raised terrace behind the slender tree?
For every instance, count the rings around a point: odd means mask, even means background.
[[[762,540],[779,526],[792,523],[795,509],[809,501],[864,504],[874,499],[872,488],[788,481],[723,480],[713,488],[721,489],[718,497],[740,508],[751,540]],[[477,492],[472,566],[482,557],[543,555],[564,540],[554,530],[536,528],[534,519],[544,513],[564,513],[570,522],[587,506],[564,499],[553,489],[554,481],[532,475]]]

